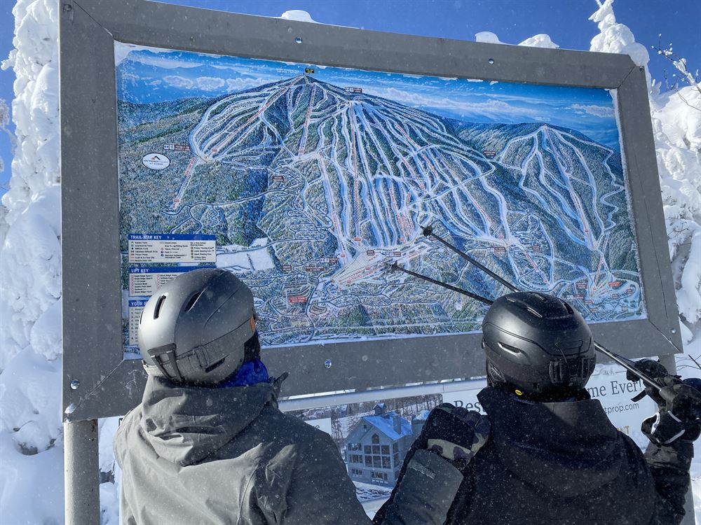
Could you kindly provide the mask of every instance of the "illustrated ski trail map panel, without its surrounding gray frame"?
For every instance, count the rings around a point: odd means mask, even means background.
[[[123,328],[178,272],[231,270],[266,347],[476,332],[505,289],[646,318],[615,92],[115,42]]]

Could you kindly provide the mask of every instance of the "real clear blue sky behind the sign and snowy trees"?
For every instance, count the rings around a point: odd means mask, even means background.
[[[252,15],[280,16],[285,10],[304,9],[319,22],[474,40],[478,31],[493,31],[501,41],[519,43],[529,36],[546,33],[562,48],[587,50],[598,33],[587,20],[597,9],[594,0],[168,0],[200,8],[229,10]],[[0,59],[12,48],[13,1],[0,0]],[[644,45],[674,42],[674,50],[688,59],[693,69],[701,68],[701,2],[698,0],[616,0],[615,15]],[[662,79],[669,64],[651,55],[653,78]],[[0,71],[0,98],[13,98],[12,71]],[[10,144],[0,134],[0,157],[6,169],[0,184],[10,176]],[[0,188],[0,195],[4,190]]]

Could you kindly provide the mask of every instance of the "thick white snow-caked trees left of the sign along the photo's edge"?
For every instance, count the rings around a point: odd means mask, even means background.
[[[0,209],[0,508],[7,523],[63,515],[58,4],[19,0],[17,147]],[[31,503],[30,503],[31,502]]]

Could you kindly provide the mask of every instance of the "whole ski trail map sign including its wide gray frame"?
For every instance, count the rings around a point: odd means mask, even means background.
[[[506,290],[428,225],[625,356],[681,348],[645,75],[625,55],[79,0],[61,64],[74,420],[137,404],[144,302],[198,267],[252,288],[285,395],[482,376],[485,307],[390,265]]]

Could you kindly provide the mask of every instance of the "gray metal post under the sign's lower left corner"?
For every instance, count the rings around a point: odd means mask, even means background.
[[[65,517],[70,525],[100,524],[100,462],[97,419],[65,421]]]

